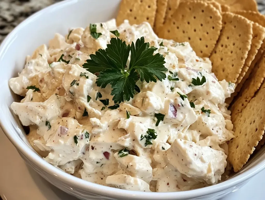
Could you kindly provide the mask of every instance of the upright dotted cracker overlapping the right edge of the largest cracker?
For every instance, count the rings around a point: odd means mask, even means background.
[[[250,50],[252,23],[230,12],[224,12],[222,16],[223,29],[210,56],[212,71],[218,80],[236,83]]]

